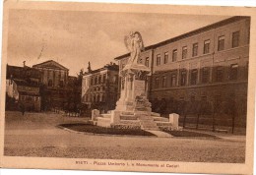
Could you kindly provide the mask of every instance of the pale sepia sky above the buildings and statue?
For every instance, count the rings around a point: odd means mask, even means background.
[[[141,32],[145,46],[224,20],[224,16],[131,14],[86,11],[12,10],[8,64],[28,66],[55,60],[75,76],[127,53],[124,35]]]

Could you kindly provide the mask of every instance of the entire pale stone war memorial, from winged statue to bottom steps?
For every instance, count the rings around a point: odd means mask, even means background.
[[[101,127],[143,130],[178,130],[178,115],[169,114],[169,118],[160,117],[152,112],[151,102],[147,98],[148,75],[151,69],[140,64],[144,43],[139,31],[130,32],[124,37],[124,43],[130,52],[126,66],[120,71],[121,94],[115,110],[99,114],[92,111],[92,123]]]

